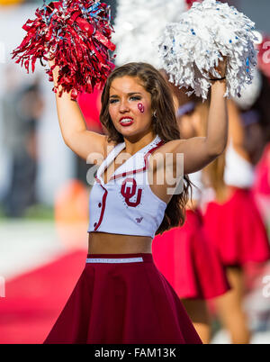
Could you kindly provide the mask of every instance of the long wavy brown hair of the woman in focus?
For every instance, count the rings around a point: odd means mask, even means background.
[[[109,114],[110,87],[112,81],[117,77],[139,77],[144,88],[151,95],[152,110],[156,111],[153,119],[153,131],[161,140],[179,140],[180,132],[175,118],[175,105],[172,92],[164,77],[158,70],[147,63],[129,63],[116,68],[108,77],[103,88],[102,109],[100,121],[108,131],[109,141],[120,143],[123,136],[118,132]],[[184,189],[179,195],[173,195],[166,206],[164,219],[157,229],[156,235],[175,226],[183,225],[185,218],[185,204],[189,198],[190,181],[188,176],[184,176]]]

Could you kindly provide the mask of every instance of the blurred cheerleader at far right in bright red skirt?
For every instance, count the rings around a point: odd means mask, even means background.
[[[220,321],[232,343],[249,343],[243,307],[243,267],[270,257],[266,227],[251,195],[253,167],[243,147],[243,128],[236,105],[229,102],[229,143],[226,155],[206,167],[211,198],[204,214],[205,231],[219,250],[227,269],[231,291],[216,301]]]

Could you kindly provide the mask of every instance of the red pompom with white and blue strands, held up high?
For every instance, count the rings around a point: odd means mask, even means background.
[[[80,92],[92,93],[101,87],[114,68],[109,50],[111,41],[110,7],[94,0],[62,0],[36,10],[36,19],[23,25],[27,32],[21,45],[13,51],[13,59],[29,72],[37,59],[54,59],[47,73],[59,67],[58,84],[53,88],[59,95],[70,92],[76,100]],[[48,55],[49,53],[49,55]]]

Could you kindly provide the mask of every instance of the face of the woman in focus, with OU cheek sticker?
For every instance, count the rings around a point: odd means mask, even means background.
[[[145,135],[152,131],[151,95],[139,77],[117,77],[110,88],[109,113],[123,137]]]

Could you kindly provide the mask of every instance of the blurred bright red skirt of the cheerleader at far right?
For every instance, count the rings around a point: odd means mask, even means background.
[[[248,189],[234,188],[226,203],[208,204],[204,227],[225,266],[270,258],[266,226]]]

